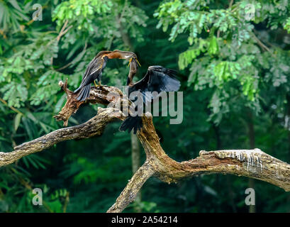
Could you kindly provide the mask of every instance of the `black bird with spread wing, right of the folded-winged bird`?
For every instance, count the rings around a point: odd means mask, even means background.
[[[131,63],[130,68],[132,67],[134,69],[134,66],[137,67],[137,65],[133,62]],[[153,99],[156,99],[158,95],[152,96],[146,92],[157,92],[158,94],[161,92],[177,92],[180,87],[180,82],[175,78],[175,74],[176,72],[174,70],[167,69],[162,66],[150,66],[148,67],[145,77],[140,79],[140,81],[133,83],[133,77],[130,76],[129,72],[127,82],[129,97],[132,92],[140,92],[143,96],[143,103],[147,105]],[[136,97],[132,101],[135,101],[135,104],[140,105]],[[128,118],[123,121],[120,130],[128,131],[128,133],[130,133],[133,129],[133,132],[136,133],[138,129],[142,128],[142,126],[143,123],[140,116],[129,115]]]

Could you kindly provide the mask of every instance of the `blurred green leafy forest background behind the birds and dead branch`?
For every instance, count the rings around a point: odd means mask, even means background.
[[[34,4],[42,21],[33,21]],[[154,118],[170,157],[260,148],[290,162],[289,32],[288,0],[0,0],[0,150],[62,128],[52,118],[65,104],[59,80],[77,88],[97,52],[120,49],[139,56],[138,78],[150,65],[179,71],[182,124]],[[103,84],[125,84],[127,63],[109,62]],[[82,106],[69,126],[95,114],[96,105]],[[106,211],[132,176],[130,134],[119,125],[1,167],[0,211]],[[43,206],[31,202],[36,187]],[[289,192],[231,175],[169,185],[152,178],[125,211],[248,212],[247,187],[256,192],[250,211],[290,211]]]

